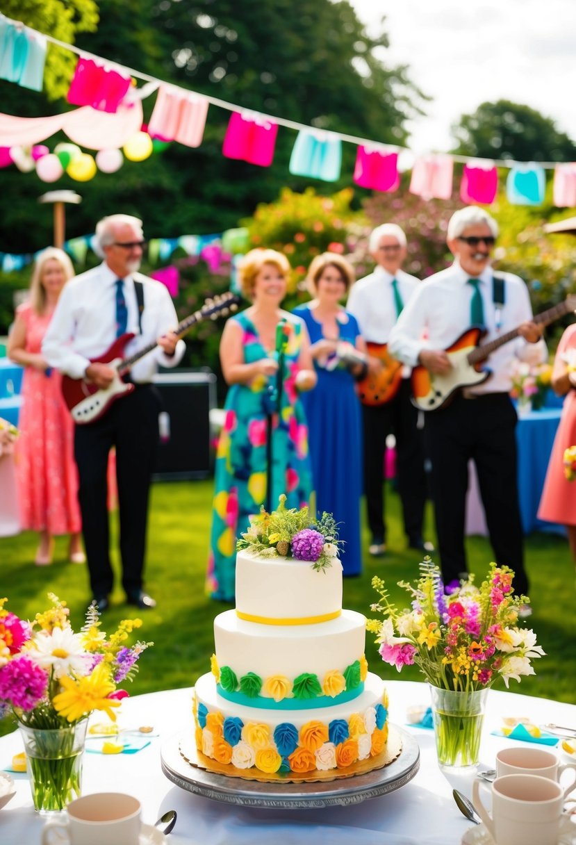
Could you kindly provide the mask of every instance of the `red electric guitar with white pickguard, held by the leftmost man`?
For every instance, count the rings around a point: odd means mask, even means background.
[[[183,319],[182,323],[177,325],[174,330],[175,334],[182,337],[193,325],[202,320],[215,319],[229,311],[234,311],[239,302],[239,297],[236,297],[233,293],[225,293],[212,300],[207,300],[199,311]],[[140,358],[148,355],[149,352],[153,352],[158,346],[155,342],[150,343],[148,346],[144,346],[144,349],[140,349],[139,352],[125,358],[123,357],[124,347],[133,337],[134,335],[127,332],[125,335],[118,337],[103,355],[92,359],[92,363],[106,363],[115,370],[114,379],[105,389],[96,387],[93,382],[87,379],[71,379],[67,375],[62,377],[64,401],[68,405],[74,423],[77,425],[94,423],[95,420],[106,413],[112,402],[132,393],[134,385],[122,381],[122,376],[126,375]]]

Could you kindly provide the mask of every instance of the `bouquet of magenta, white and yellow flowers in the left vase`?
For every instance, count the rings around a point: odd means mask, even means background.
[[[52,608],[32,623],[4,608],[0,599],[0,710],[12,708],[30,728],[62,728],[94,710],[116,719],[114,708],[126,695],[117,685],[132,679],[140,654],[152,643],[127,646],[142,622],[124,619],[110,637],[100,629],[90,605],[85,624],[74,634],[66,602],[48,593]]]

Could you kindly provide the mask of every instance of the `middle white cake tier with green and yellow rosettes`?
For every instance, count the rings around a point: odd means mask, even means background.
[[[367,673],[362,613],[343,610],[328,622],[289,626],[247,622],[227,610],[215,618],[214,636],[220,694],[228,692],[231,700],[241,690],[276,701],[345,692],[350,701],[361,694]]]

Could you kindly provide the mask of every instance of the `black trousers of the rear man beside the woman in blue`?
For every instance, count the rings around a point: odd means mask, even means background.
[[[418,412],[410,402],[410,379],[402,379],[394,399],[378,406],[362,406],[364,424],[364,492],[372,537],[386,539],[383,463],[386,438],[396,439],[396,475],[402,503],[404,530],[409,541],[422,536],[427,474]]]

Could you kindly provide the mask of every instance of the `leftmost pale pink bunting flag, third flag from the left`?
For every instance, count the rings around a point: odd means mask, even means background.
[[[206,97],[161,85],[148,131],[166,141],[199,147],[204,137],[207,114]]]

